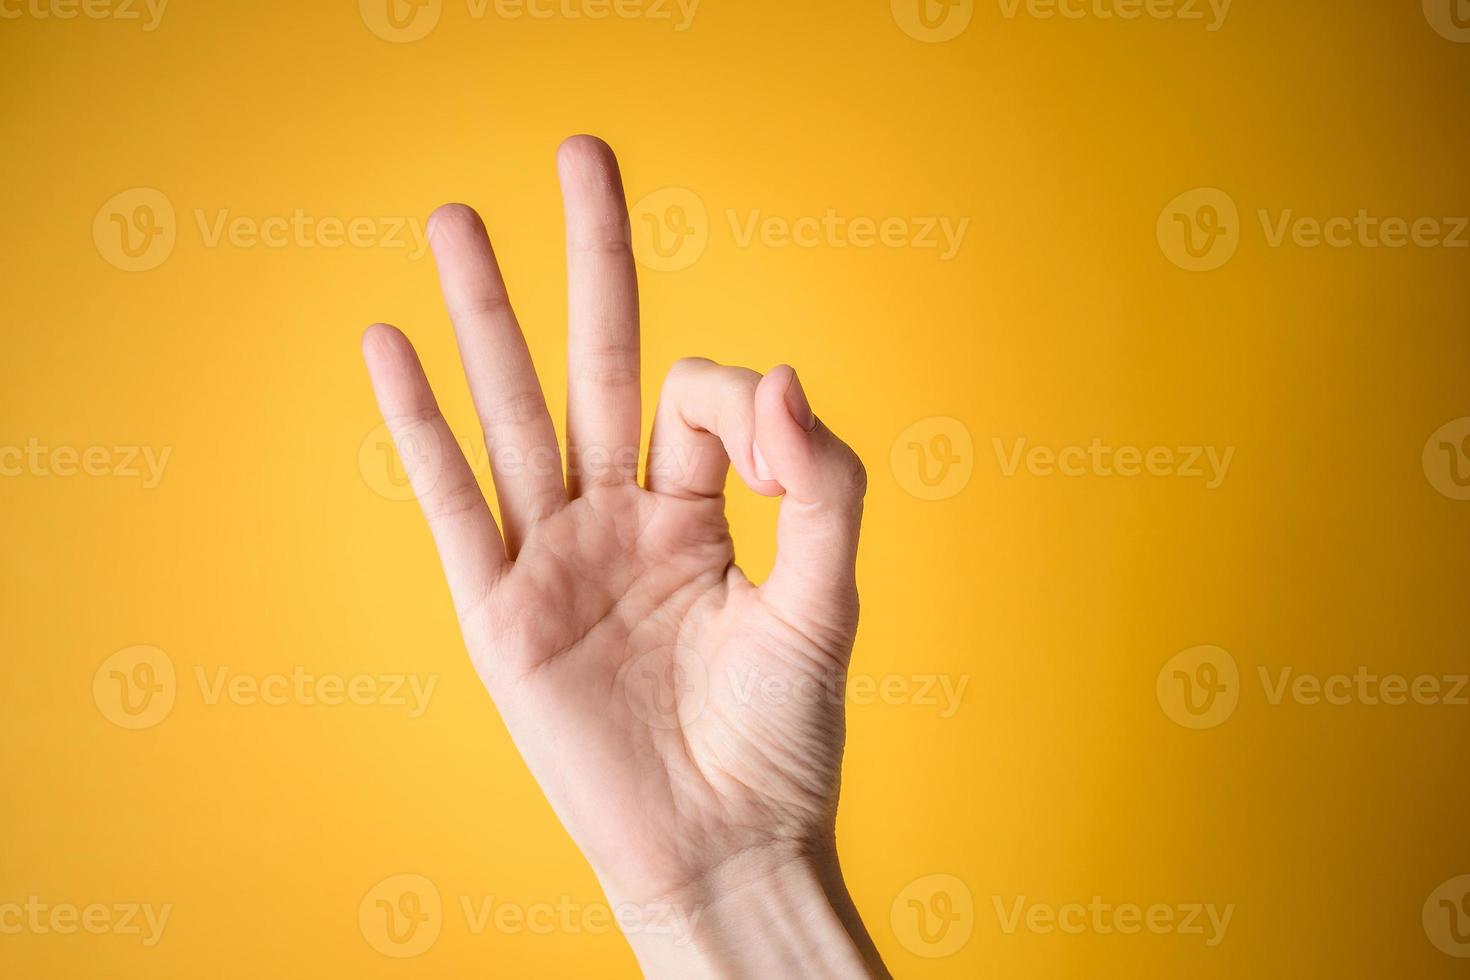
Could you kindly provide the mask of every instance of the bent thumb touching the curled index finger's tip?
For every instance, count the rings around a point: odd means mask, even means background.
[[[761,586],[761,599],[817,639],[851,644],[867,473],[857,454],[813,414],[801,379],[785,364],[756,388],[754,460],[757,476],[785,492],[776,564]]]

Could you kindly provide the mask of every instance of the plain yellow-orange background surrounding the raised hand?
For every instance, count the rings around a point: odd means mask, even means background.
[[[351,0],[173,0],[154,31],[15,3],[0,444],[172,457],[151,489],[0,479],[0,904],[173,909],[154,948],[0,934],[0,973],[635,974],[613,932],[473,934],[460,911],[603,899],[467,664],[417,508],[359,464],[373,320],[413,336],[451,425],[476,433],[431,260],[210,247],[196,217],[475,204],[560,406],[553,151],[588,131],[632,200],[682,188],[709,215],[697,262],[641,276],[645,419],[681,356],[795,364],[872,472],[854,673],[967,679],[948,718],[916,699],[850,708],[842,860],[895,973],[1463,974],[1420,909],[1470,871],[1470,708],[1272,705],[1257,677],[1470,669],[1470,502],[1420,461],[1470,416],[1470,251],[1270,247],[1257,219],[1470,215],[1470,44],[1419,0],[1236,0],[1217,31],[979,3],[944,43],[910,37],[888,0],[704,0],[686,31],[444,0],[415,43],[373,34]],[[172,203],[176,245],[123,272],[93,222],[138,187]],[[1239,207],[1238,250],[1185,272],[1155,223],[1201,187]],[[942,262],[742,247],[728,217],[828,209],[970,225]],[[935,416],[973,436],[972,476],[928,501],[891,448]],[[1005,476],[992,442],[1094,436],[1235,457],[1207,489]],[[775,505],[735,489],[731,510],[760,576]],[[125,730],[93,677],[140,644],[175,664],[176,704]],[[1155,677],[1205,644],[1239,664],[1239,705],[1189,730]],[[194,674],[297,666],[438,686],[410,720],[210,705]],[[409,959],[357,926],[400,873],[444,899],[438,940]],[[942,958],[891,917],[929,874],[973,898],[956,926],[972,934]],[[1022,895],[1235,911],[1214,948],[1008,934],[994,901]]]

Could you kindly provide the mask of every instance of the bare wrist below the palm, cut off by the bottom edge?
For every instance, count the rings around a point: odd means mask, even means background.
[[[751,848],[676,892],[616,902],[648,977],[886,977],[835,848]]]

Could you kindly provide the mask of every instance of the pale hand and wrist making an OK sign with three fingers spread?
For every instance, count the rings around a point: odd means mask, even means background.
[[[557,153],[567,229],[566,475],[485,226],[429,219],[500,522],[409,339],[363,354],[465,644],[648,976],[886,976],[842,884],[841,692],[866,476],[800,379],[703,359],[664,379],[638,483],[638,284],[612,150]],[[729,470],[781,497],[760,586],[734,564]],[[654,929],[659,918],[672,929]]]

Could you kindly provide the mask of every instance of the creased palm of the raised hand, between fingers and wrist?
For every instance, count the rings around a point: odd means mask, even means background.
[[[650,899],[833,815],[844,651],[775,617],[732,557],[719,500],[600,494],[537,527],[465,623],[532,770],[579,774],[542,780],[563,823]]]

